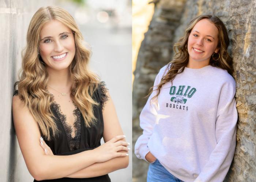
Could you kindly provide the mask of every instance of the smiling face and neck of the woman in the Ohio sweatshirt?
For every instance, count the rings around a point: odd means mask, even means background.
[[[209,65],[212,54],[218,52],[218,28],[208,19],[198,21],[188,37],[189,64]]]

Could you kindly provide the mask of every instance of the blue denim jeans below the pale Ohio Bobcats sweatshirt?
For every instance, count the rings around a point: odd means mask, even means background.
[[[147,182],[183,182],[169,173],[161,163],[156,160],[149,164],[147,172]]]

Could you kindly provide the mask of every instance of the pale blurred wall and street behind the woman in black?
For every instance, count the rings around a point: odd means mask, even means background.
[[[75,19],[91,48],[91,70],[106,82],[126,140],[132,143],[132,8],[129,0],[0,0],[1,105],[0,175],[2,182],[33,181],[20,152],[11,117],[14,82],[21,67],[21,51],[31,17],[42,6],[59,6]],[[5,87],[3,87],[5,85]],[[102,141],[103,142],[103,141]],[[130,146],[132,148],[132,146]],[[129,166],[110,173],[113,182],[132,181]],[[120,179],[121,178],[121,179]]]

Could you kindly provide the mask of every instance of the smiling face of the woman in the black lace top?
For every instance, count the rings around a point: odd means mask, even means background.
[[[67,69],[76,52],[71,29],[57,20],[46,23],[40,31],[39,49],[47,69]]]

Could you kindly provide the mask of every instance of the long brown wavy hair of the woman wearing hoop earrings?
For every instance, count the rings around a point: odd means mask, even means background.
[[[200,15],[190,21],[187,29],[185,30],[185,35],[181,37],[177,43],[174,44],[173,49],[175,51],[175,55],[173,57],[173,60],[168,63],[167,69],[165,70],[166,75],[162,77],[161,82],[158,84],[158,86],[156,86],[157,88],[155,90],[157,94],[152,99],[158,97],[158,95],[160,94],[160,89],[162,88],[163,84],[167,82],[171,82],[173,84],[173,79],[175,78],[175,76],[177,74],[181,74],[184,71],[184,68],[185,66],[187,66],[188,59],[189,59],[189,54],[186,48],[186,45],[188,44],[189,34],[191,33],[195,24],[202,19],[208,19],[209,21],[214,23],[219,31],[219,42],[217,45],[217,48],[219,48],[218,49],[219,56],[216,56],[218,54],[215,54],[213,57],[211,56],[210,65],[214,67],[222,68],[223,70],[227,70],[227,72],[229,72],[230,75],[232,74],[233,61],[232,61],[232,58],[229,56],[229,53],[227,52],[227,47],[229,46],[229,37],[227,35],[227,29],[224,23],[217,16]],[[150,94],[153,91],[154,91],[154,87],[151,87]]]

